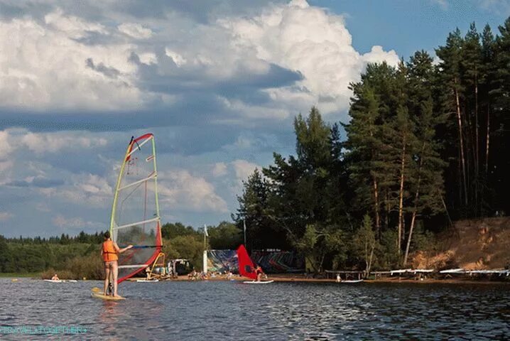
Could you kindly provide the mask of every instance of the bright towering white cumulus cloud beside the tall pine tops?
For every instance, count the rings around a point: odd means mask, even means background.
[[[359,80],[367,63],[385,60],[398,64],[395,51],[385,52],[380,46],[360,55],[352,47],[352,36],[342,16],[309,6],[305,0],[269,7],[254,18],[220,22],[232,30],[235,43],[246,50],[252,48],[261,60],[303,75],[295,87],[268,90],[271,98],[288,107],[294,107],[297,99],[307,107],[319,103],[322,112],[347,109],[349,82]]]

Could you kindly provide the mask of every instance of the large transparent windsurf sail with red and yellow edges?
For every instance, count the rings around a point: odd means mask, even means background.
[[[129,142],[116,183],[110,234],[121,249],[133,245],[119,254],[117,283],[146,269],[161,251],[153,134],[132,137]]]

